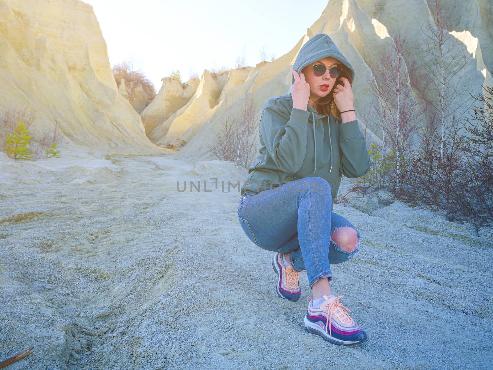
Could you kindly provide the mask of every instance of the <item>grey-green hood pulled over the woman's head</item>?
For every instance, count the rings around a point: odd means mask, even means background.
[[[354,69],[351,63],[342,55],[334,41],[327,34],[317,34],[305,42],[296,57],[293,69],[300,74],[303,68],[309,64],[327,57],[337,59],[344,64],[350,70],[351,78],[354,80]],[[291,84],[293,83],[294,75],[291,74]]]

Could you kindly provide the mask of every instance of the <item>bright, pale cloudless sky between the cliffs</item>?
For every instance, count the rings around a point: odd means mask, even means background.
[[[84,0],[93,6],[111,67],[130,61],[156,92],[179,70],[181,81],[204,69],[270,61],[293,48],[328,0]]]

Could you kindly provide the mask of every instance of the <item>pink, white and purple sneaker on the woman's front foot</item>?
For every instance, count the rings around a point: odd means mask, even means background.
[[[320,308],[315,308],[312,304],[313,297],[308,297],[305,330],[338,345],[363,343],[367,338],[366,332],[349,316],[348,312],[351,311],[339,302],[343,296],[323,297],[325,301]]]

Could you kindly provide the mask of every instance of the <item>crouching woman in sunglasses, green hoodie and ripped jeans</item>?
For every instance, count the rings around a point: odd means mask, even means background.
[[[339,345],[367,335],[329,285],[330,263],[351,259],[360,234],[332,212],[342,175],[360,177],[370,158],[351,90],[354,69],[326,34],[301,48],[291,93],[269,98],[260,118],[257,163],[241,188],[238,218],[258,247],[276,252],[277,294],[297,301],[306,270],[313,297],[304,319],[309,333]]]

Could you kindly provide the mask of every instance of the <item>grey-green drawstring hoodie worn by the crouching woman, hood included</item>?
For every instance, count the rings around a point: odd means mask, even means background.
[[[317,34],[303,45],[293,69],[299,74],[305,66],[327,57],[346,65],[354,78],[351,63],[326,34]],[[267,100],[259,130],[259,154],[256,164],[248,169],[242,196],[317,176],[329,183],[335,199],[342,175],[360,177],[370,169],[366,140],[357,119],[341,123],[332,114],[318,114],[310,104],[306,111],[293,108],[291,93]]]

